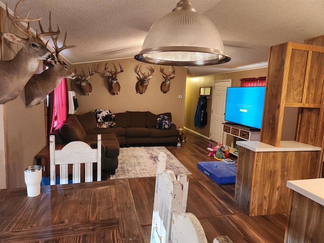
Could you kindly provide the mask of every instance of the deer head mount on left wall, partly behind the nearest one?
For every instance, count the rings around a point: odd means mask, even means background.
[[[51,13],[50,13],[51,19]],[[39,26],[42,26],[39,23]],[[42,28],[42,27],[41,27]],[[64,41],[62,47],[58,47],[57,39],[58,35],[54,37],[53,43],[55,46],[55,55],[56,58],[49,63],[49,68],[46,69],[41,74],[34,74],[29,79],[25,86],[25,97],[26,97],[26,106],[33,107],[42,103],[48,94],[50,94],[56,86],[62,80],[62,77],[74,79],[76,75],[68,68],[68,66],[59,58],[59,53],[65,49],[76,47],[76,46],[66,46],[66,32],[64,36]]]

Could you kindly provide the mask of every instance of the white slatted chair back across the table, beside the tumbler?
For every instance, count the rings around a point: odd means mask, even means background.
[[[101,134],[97,137],[97,148],[82,141],[73,141],[62,149],[55,149],[55,136],[50,136],[50,180],[55,185],[55,166],[60,166],[60,184],[68,183],[68,165],[72,164],[72,182],[79,183],[80,164],[85,164],[85,182],[93,181],[93,164],[97,163],[97,181],[101,181]]]

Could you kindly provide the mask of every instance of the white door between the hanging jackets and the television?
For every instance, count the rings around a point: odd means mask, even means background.
[[[217,80],[214,82],[210,139],[223,142],[223,125],[225,113],[226,88],[231,87],[232,79]]]

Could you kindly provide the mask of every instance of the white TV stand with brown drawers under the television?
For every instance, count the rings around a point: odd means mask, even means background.
[[[232,123],[223,123],[223,139],[222,139],[223,141],[224,141],[224,134],[231,135],[232,139],[231,139],[231,144],[229,146],[229,152],[235,156],[238,155],[236,141],[239,140],[259,141],[260,139],[260,129],[241,126]]]

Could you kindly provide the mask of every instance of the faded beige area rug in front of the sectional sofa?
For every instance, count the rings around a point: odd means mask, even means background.
[[[166,147],[129,147],[120,148],[118,168],[110,179],[126,179],[156,176],[157,154],[167,154],[166,169],[174,174],[191,175],[190,171]]]

